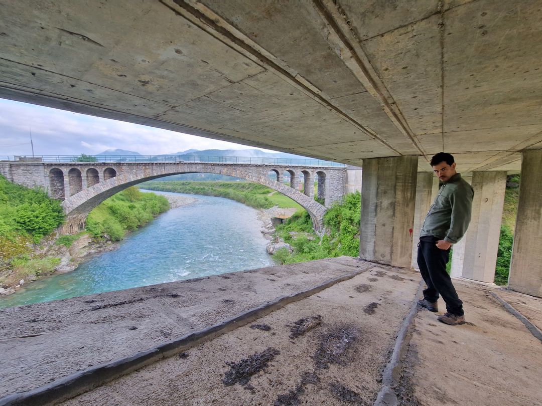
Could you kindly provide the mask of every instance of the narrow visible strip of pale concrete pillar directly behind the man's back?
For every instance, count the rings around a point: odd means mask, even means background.
[[[431,203],[438,193],[438,178],[433,172],[418,172],[416,182],[416,208],[414,210],[414,232],[412,232],[412,267],[418,269],[418,241],[422,231],[423,220],[429,212]]]

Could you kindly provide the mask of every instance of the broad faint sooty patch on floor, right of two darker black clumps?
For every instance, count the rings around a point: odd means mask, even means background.
[[[358,335],[359,331],[353,326],[337,326],[322,336],[313,357],[316,368],[328,369],[330,364],[346,365],[349,350]]]

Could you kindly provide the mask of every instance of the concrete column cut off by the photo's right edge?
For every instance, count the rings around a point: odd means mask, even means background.
[[[542,149],[524,150],[508,287],[542,297]]]

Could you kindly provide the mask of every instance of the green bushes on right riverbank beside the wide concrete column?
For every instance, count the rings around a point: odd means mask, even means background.
[[[359,218],[361,194],[347,194],[335,203],[324,216],[326,234],[319,237],[312,230],[311,218],[306,211],[298,211],[284,224],[276,227],[278,235],[293,248],[278,250],[274,258],[280,264],[313,259],[359,255]]]

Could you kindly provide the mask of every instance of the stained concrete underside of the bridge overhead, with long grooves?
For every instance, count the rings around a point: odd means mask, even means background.
[[[542,148],[538,0],[0,7],[0,97],[352,165]]]

